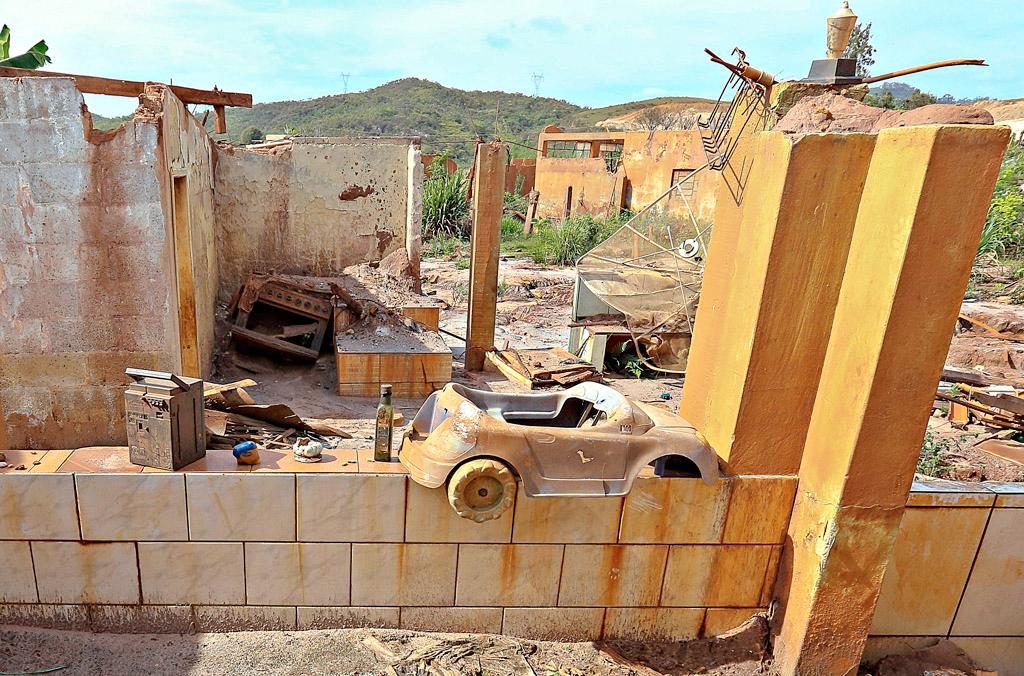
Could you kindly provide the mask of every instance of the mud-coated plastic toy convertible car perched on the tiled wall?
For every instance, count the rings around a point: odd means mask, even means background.
[[[645,466],[714,483],[718,456],[679,416],[607,385],[506,393],[450,383],[420,408],[398,459],[428,489],[447,483],[465,518],[498,518],[512,504],[513,472],[529,497],[622,496]]]

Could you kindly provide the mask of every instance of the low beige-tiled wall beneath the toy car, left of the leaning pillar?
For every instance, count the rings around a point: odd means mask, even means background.
[[[456,516],[401,474],[0,475],[0,623],[713,635],[767,605],[794,477]]]

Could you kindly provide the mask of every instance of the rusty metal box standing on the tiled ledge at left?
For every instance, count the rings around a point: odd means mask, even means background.
[[[131,462],[176,470],[205,456],[203,381],[144,369],[125,375],[134,381],[125,390]]]

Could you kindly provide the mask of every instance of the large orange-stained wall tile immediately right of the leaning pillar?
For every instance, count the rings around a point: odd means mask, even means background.
[[[987,509],[904,511],[870,633],[940,636],[949,631],[987,519]]]

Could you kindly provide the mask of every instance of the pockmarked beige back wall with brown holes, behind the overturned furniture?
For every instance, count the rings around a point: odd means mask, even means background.
[[[252,272],[325,276],[379,260],[419,233],[419,210],[410,209],[410,191],[422,189],[410,180],[422,176],[418,140],[298,138],[279,153],[218,153],[224,295]]]

